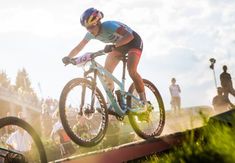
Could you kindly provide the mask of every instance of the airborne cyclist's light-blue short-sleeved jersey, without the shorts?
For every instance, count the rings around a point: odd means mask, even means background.
[[[121,33],[124,30],[133,33],[133,30],[127,25],[117,22],[117,21],[105,21],[101,24],[100,33],[94,36],[90,32],[85,35],[85,40],[90,41],[91,39],[97,39],[104,43],[116,43],[121,37]]]

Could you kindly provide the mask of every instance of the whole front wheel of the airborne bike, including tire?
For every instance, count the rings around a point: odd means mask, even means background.
[[[59,101],[60,118],[66,133],[76,144],[86,147],[98,144],[108,125],[104,97],[97,87],[92,90],[91,81],[73,79],[65,85]]]

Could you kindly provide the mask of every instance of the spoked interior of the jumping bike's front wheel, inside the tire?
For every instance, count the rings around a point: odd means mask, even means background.
[[[82,87],[84,86],[86,86],[86,94],[82,107],[83,114],[80,116],[78,115],[78,112],[80,112]],[[97,98],[96,94],[95,101],[98,102],[98,104],[94,105],[95,108],[91,108],[91,94],[91,87],[85,84],[81,84],[70,90],[69,94],[67,95],[67,121],[71,130],[75,132],[75,135],[82,140],[94,139],[100,133],[102,126],[102,114],[98,113],[97,111],[91,111],[92,109],[96,110],[97,106],[101,106],[99,104],[99,98]]]

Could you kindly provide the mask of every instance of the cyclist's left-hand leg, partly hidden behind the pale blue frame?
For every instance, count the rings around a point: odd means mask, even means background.
[[[116,50],[113,50],[108,54],[105,60],[104,68],[109,71],[110,73],[113,73],[114,69],[118,65],[120,61],[120,57],[122,56],[122,53]],[[105,77],[105,80],[107,82],[107,85],[111,91],[114,90],[114,83],[112,79]]]

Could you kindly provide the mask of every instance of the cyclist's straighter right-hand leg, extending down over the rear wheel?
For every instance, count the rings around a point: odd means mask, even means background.
[[[140,96],[142,101],[146,101],[145,90],[144,90],[144,82],[141,78],[140,74],[137,72],[137,66],[139,64],[141,50],[139,49],[130,49],[128,52],[128,60],[127,60],[127,69],[130,77],[132,78],[136,90]]]

